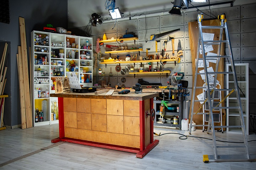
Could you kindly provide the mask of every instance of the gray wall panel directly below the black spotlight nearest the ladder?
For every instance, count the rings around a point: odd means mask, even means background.
[[[163,15],[160,17],[160,25],[162,27],[171,27],[184,24],[184,16]]]

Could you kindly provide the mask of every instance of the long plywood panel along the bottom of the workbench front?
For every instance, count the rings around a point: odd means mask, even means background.
[[[114,144],[118,146],[140,148],[140,136],[131,136],[119,133],[108,133],[65,127],[65,137]]]

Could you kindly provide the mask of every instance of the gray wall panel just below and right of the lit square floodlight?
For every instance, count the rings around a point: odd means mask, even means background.
[[[135,20],[126,20],[117,22],[117,31],[123,32],[127,30],[127,32],[137,31],[138,22]]]

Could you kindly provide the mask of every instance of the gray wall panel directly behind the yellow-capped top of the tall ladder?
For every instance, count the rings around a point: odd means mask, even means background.
[[[218,17],[225,13],[227,20],[237,20],[240,18],[240,6],[225,7],[211,10],[211,13]]]

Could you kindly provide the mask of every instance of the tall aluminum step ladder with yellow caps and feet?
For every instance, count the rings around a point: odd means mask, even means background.
[[[193,87],[193,97],[192,97],[192,110],[191,110],[191,115],[190,115],[190,126],[189,126],[189,134],[191,134],[191,129],[193,126],[207,126],[207,133],[209,134],[209,130],[211,128],[211,135],[213,139],[213,151],[214,155],[203,155],[203,161],[205,163],[209,162],[209,159],[215,159],[215,160],[236,160],[236,159],[255,159],[256,155],[250,155],[249,153],[249,147],[248,147],[248,142],[247,142],[247,136],[245,133],[245,123],[244,123],[244,117],[242,113],[242,106],[241,106],[241,99],[240,99],[240,92],[238,89],[238,84],[237,84],[237,77],[236,77],[236,72],[235,72],[235,66],[234,66],[234,59],[233,59],[233,54],[231,50],[231,43],[230,43],[230,37],[229,37],[229,32],[228,32],[228,27],[226,23],[226,18],[225,14],[220,15],[218,17],[220,19],[220,26],[202,26],[202,20],[203,20],[203,15],[202,13],[198,15],[198,28],[199,28],[199,38],[198,38],[198,47],[197,47],[197,60],[196,60],[196,66],[195,66],[195,79],[194,79],[194,87]],[[204,40],[203,39],[203,32],[202,29],[219,29],[220,30],[220,35],[219,35],[219,40]],[[225,40],[223,40],[223,31],[225,33]],[[228,46],[228,51],[229,54],[225,56],[220,55],[221,51],[221,45],[226,44]],[[201,52],[202,52],[202,57],[199,57],[200,53],[200,45],[201,45]],[[218,45],[218,53],[215,56],[206,56],[205,55],[205,45]],[[227,58],[231,61],[231,71],[230,72],[218,72],[219,68],[219,62],[221,58]],[[203,67],[204,67],[204,72],[198,72],[198,66],[199,66],[199,61],[203,61]],[[207,61],[209,60],[215,60],[216,62],[216,67],[215,71],[208,71],[207,70]],[[234,89],[217,89],[216,88],[216,82],[217,82],[217,75],[218,74],[232,74],[234,78]],[[205,76],[205,83],[207,84],[206,87],[196,87],[197,85],[197,76],[204,75]],[[214,75],[212,77],[211,75]],[[209,76],[209,77],[208,77]],[[195,92],[196,89],[203,89],[205,88],[205,92],[207,92],[207,98],[205,100],[203,99],[196,99],[195,98]],[[218,105],[213,106],[214,104],[214,93],[219,91],[223,91],[227,93],[227,96],[223,98]],[[221,103],[224,102],[224,100],[231,94],[235,92],[236,97],[237,97],[237,105],[235,107],[222,107],[220,106]],[[211,94],[213,97],[211,97]],[[203,104],[200,106],[197,112],[194,113],[194,106],[196,102],[201,102],[205,103],[208,102],[209,106],[209,113],[199,113],[200,109],[202,109]],[[239,116],[240,116],[240,126],[214,126],[214,120],[213,120],[213,110],[214,109],[237,109],[239,110]],[[209,121],[208,125],[192,125],[193,121],[193,115],[195,114],[209,114]],[[238,145],[238,146],[217,146],[216,145],[216,137],[215,137],[215,128],[241,128],[242,129],[242,136],[244,139],[243,145]],[[245,153],[244,154],[229,154],[229,155],[218,155],[217,148],[244,148]],[[230,151],[230,150],[229,150]]]

